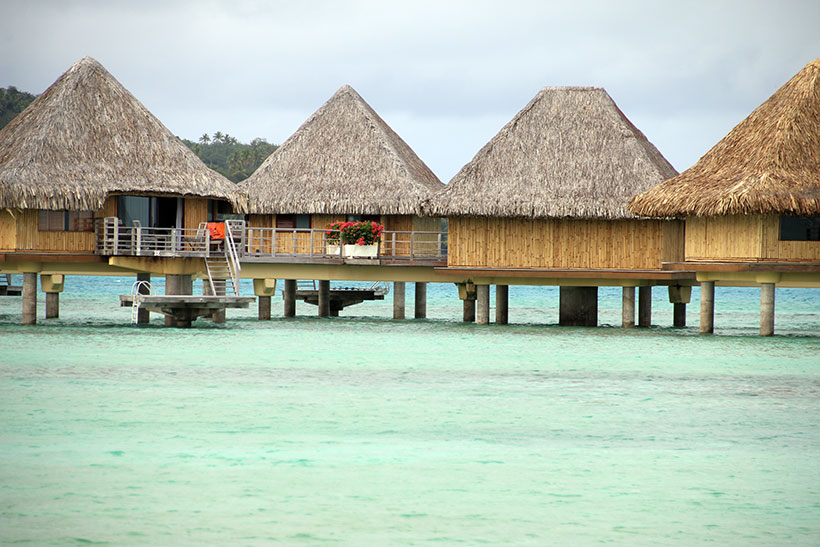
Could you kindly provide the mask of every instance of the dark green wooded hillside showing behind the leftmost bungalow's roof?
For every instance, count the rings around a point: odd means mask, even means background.
[[[0,88],[0,129],[8,125],[37,95],[20,91],[15,86]],[[279,148],[262,137],[249,143],[240,142],[227,132],[203,133],[196,141],[178,137],[199,159],[232,182],[248,178],[265,158]]]

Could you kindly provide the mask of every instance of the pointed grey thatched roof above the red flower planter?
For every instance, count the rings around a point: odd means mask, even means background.
[[[444,187],[350,86],[241,186],[259,214],[417,214]]]

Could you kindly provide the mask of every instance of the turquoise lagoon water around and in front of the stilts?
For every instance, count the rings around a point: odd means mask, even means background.
[[[624,331],[528,287],[464,325],[431,285],[425,321],[388,296],[180,330],[128,326],[130,285],[70,277],[33,327],[0,298],[1,544],[820,543],[818,290],[778,289],[766,339],[751,289],[703,337],[697,291],[686,329],[661,289]]]

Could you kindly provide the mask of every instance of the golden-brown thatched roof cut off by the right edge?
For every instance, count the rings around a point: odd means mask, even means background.
[[[647,216],[820,214],[820,59],[694,166],[637,196]]]

